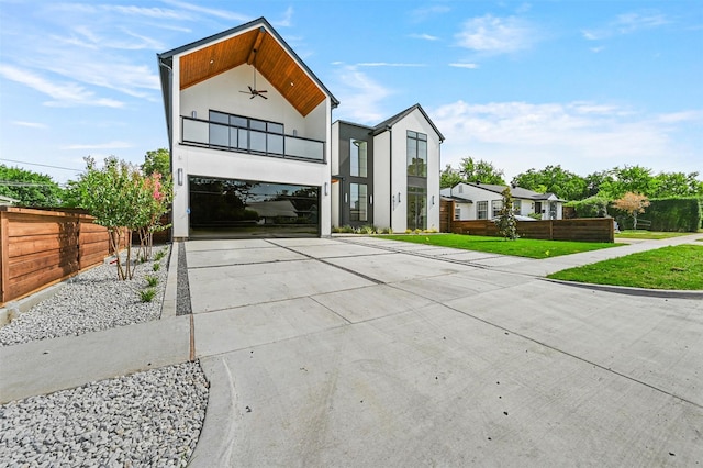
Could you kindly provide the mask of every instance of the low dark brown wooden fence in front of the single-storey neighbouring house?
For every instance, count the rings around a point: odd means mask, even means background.
[[[447,231],[455,234],[501,237],[498,225],[490,220],[451,220]],[[517,235],[547,241],[615,242],[612,218],[517,221]]]

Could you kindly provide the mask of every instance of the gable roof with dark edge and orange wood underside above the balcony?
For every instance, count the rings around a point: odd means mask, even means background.
[[[247,64],[266,78],[303,116],[328,97],[339,101],[300,59],[265,18],[157,54],[167,120],[174,56],[180,56],[180,90]]]

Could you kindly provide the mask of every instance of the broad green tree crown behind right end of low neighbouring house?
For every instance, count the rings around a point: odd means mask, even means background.
[[[585,179],[565,170],[561,166],[547,166],[542,170],[529,169],[513,177],[511,185],[523,189],[554,193],[565,200],[581,200],[588,194]]]

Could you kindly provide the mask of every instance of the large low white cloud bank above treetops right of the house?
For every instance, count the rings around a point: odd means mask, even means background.
[[[470,155],[513,176],[549,164],[582,176],[624,164],[667,170],[673,158],[693,157],[678,146],[676,125],[703,122],[702,111],[651,116],[590,102],[457,101],[429,114],[447,138],[443,165],[457,166]]]

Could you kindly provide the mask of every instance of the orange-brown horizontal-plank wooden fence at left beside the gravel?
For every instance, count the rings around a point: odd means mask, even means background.
[[[108,235],[87,214],[0,207],[0,304],[102,263]]]

